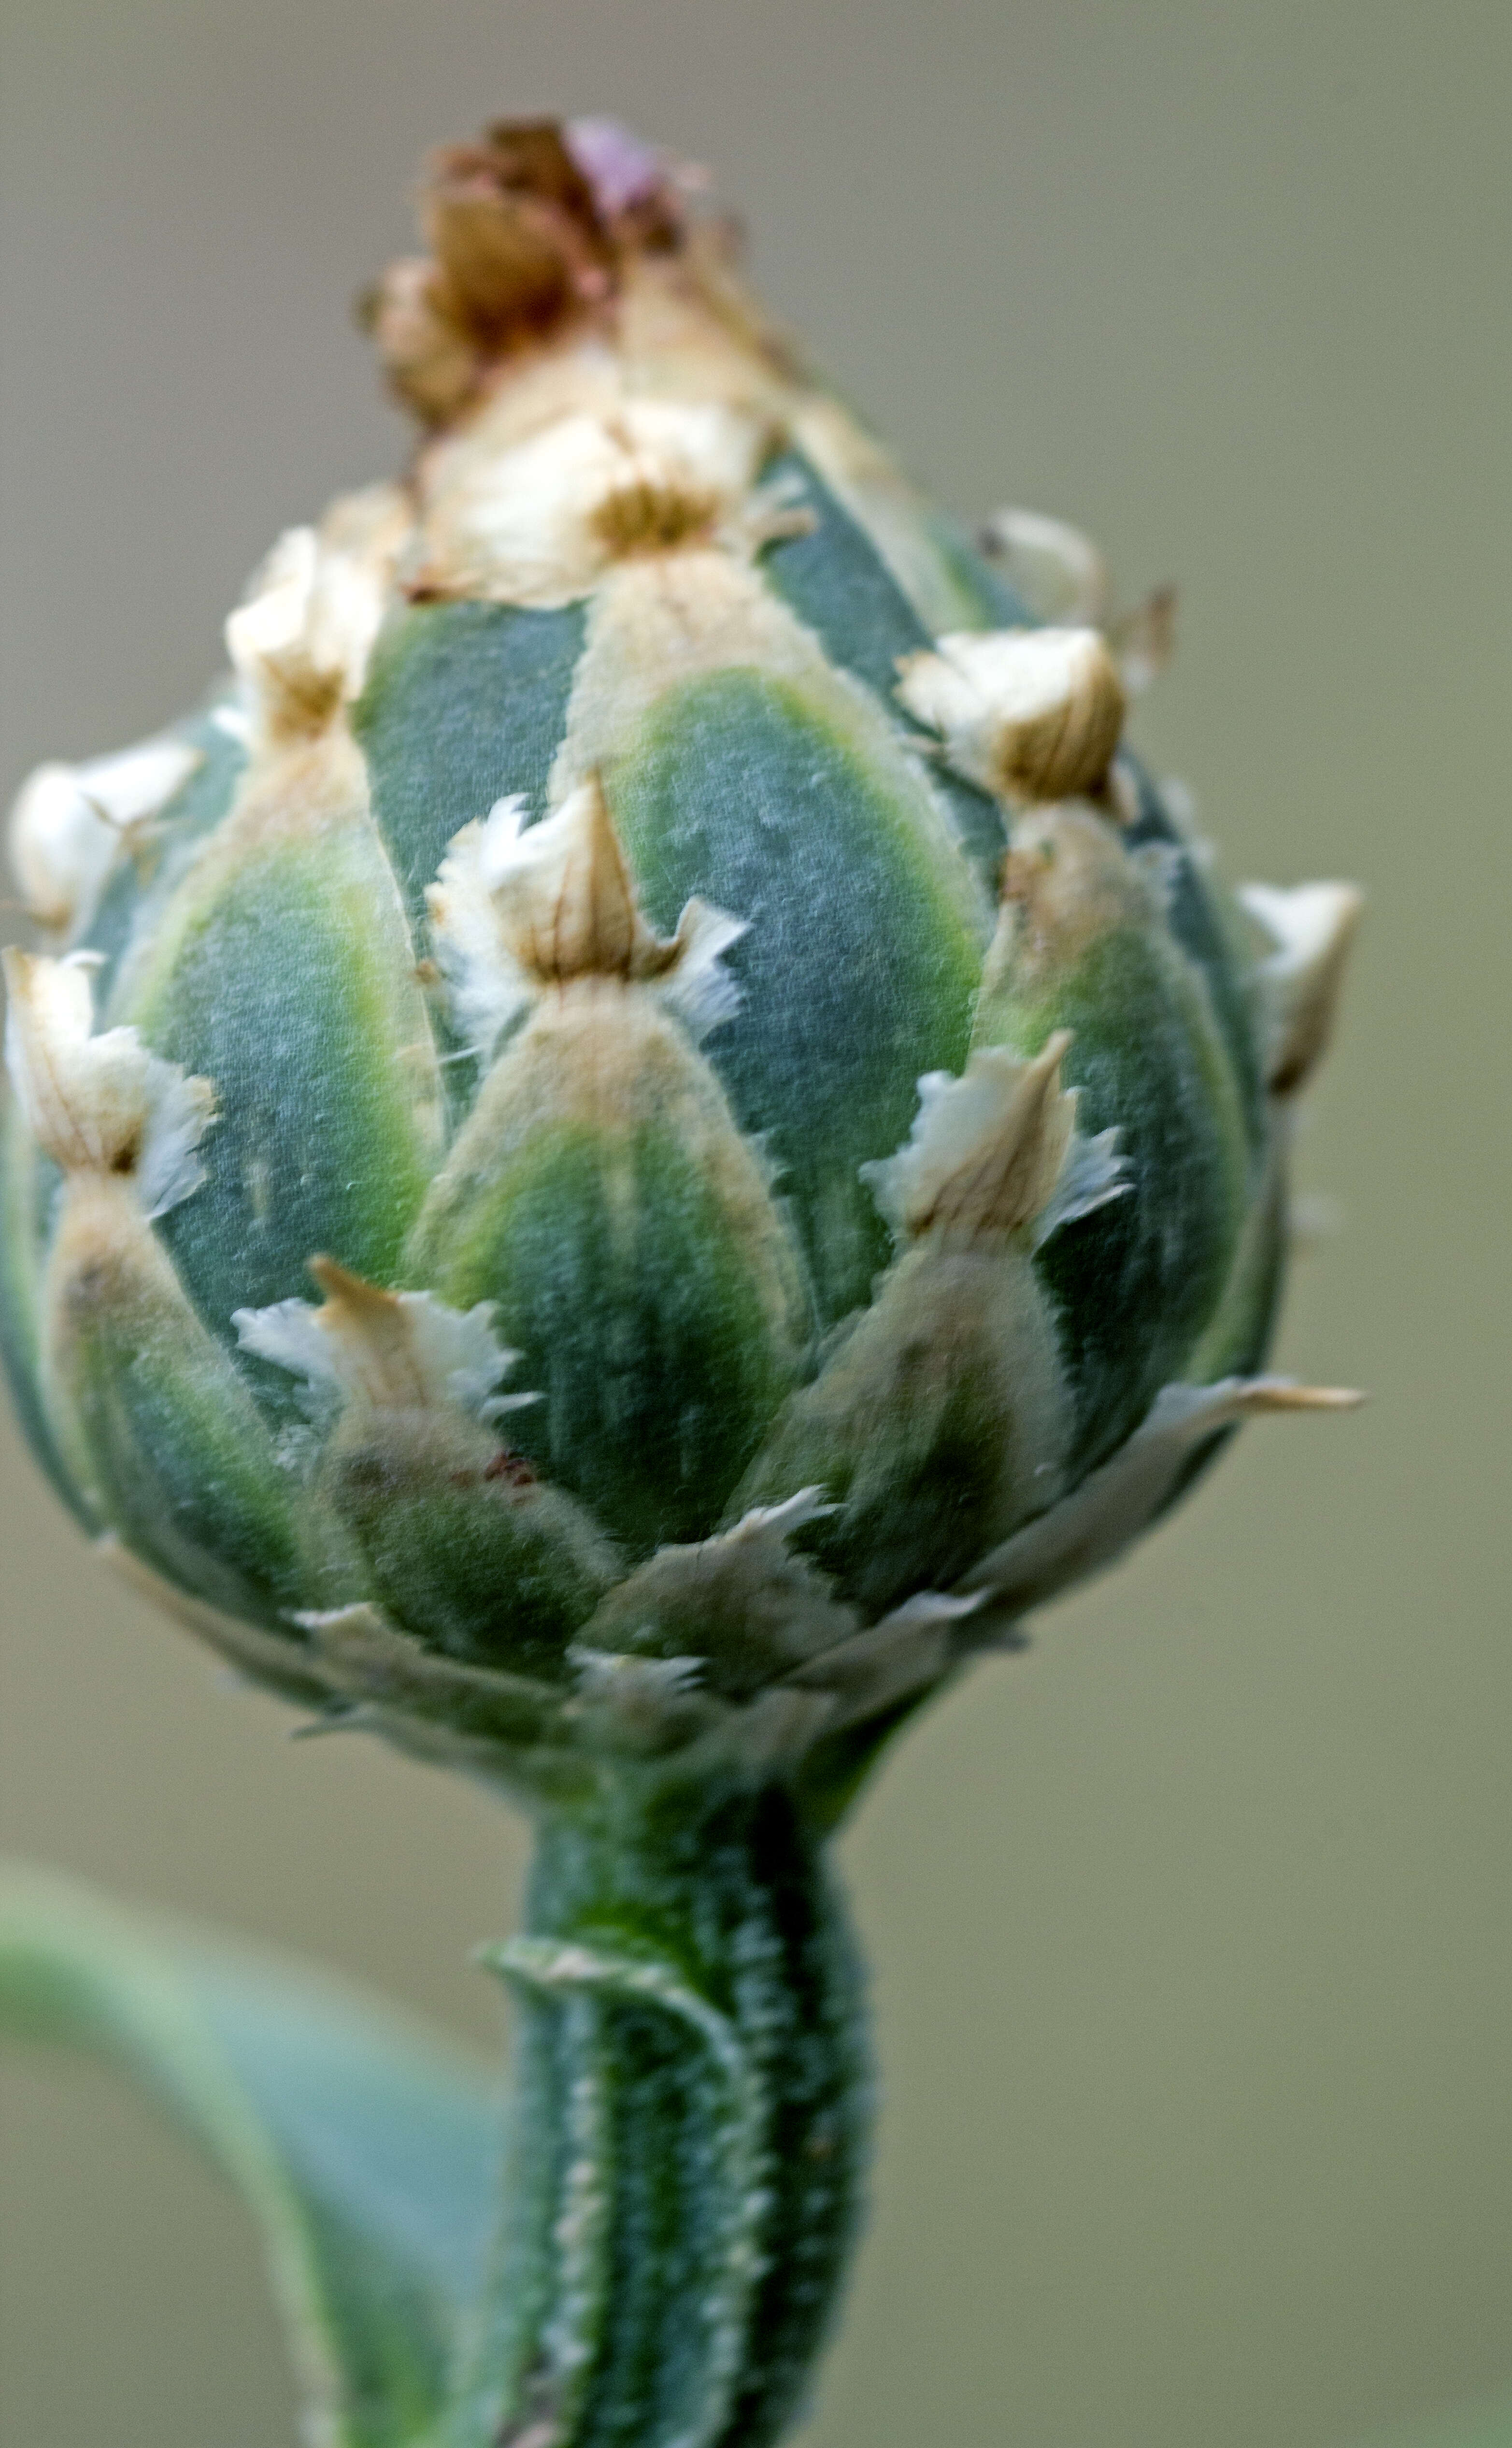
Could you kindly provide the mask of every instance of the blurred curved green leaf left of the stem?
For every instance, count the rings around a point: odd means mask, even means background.
[[[433,2436],[497,2218],[487,2069],[355,1988],[34,1870],[0,1875],[0,2032],[132,2073],[230,2176],[318,2448]]]

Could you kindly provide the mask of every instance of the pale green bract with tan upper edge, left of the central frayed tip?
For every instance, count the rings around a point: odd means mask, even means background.
[[[443,1092],[350,739],[250,766],[122,1016],[215,1087],[206,1180],[161,1239],[237,1368],[232,1312],[303,1297],[316,1253],[391,1280],[440,1163]],[[296,1412],[272,1371],[252,1383],[276,1420]]]

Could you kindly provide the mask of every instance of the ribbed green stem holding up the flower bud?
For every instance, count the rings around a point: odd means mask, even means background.
[[[470,2441],[756,2448],[795,2411],[869,2132],[856,1954],[785,1787],[548,1816]]]

